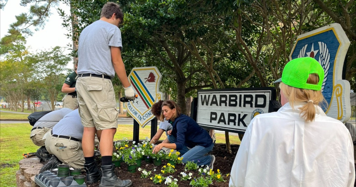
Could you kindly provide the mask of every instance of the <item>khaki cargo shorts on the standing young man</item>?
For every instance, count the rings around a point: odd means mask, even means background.
[[[75,84],[79,115],[84,127],[96,130],[117,128],[116,99],[110,79],[80,77]]]

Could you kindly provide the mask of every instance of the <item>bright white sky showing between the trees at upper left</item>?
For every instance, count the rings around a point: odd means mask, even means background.
[[[59,2],[59,7],[68,14],[69,6]],[[23,7],[20,5],[20,0],[8,0],[4,10],[0,10],[0,38],[7,35],[9,25],[16,21],[15,16],[22,12],[28,12],[29,7]],[[32,27],[32,36],[27,36],[26,47],[29,47],[29,51],[35,53],[36,51],[49,50],[53,47],[60,46],[68,48],[68,44],[72,43],[70,38],[67,38],[65,34],[68,33],[66,28],[62,26],[62,18],[57,13],[55,8],[51,9],[52,15],[49,16],[48,21],[43,29],[35,31]],[[69,50],[64,50],[66,54],[69,54]],[[73,68],[73,61],[70,61],[67,65],[68,68]]]

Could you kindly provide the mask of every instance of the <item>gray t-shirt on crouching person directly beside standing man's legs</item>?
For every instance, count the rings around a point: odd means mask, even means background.
[[[53,127],[53,134],[70,136],[79,140],[83,138],[83,131],[84,126],[80,120],[78,109],[64,116],[64,118]]]

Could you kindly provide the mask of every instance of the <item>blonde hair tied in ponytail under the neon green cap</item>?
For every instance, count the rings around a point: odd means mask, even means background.
[[[318,74],[309,74],[307,80],[308,84],[318,84],[318,82]],[[302,116],[305,121],[314,121],[316,113],[315,105],[320,106],[321,104],[326,103],[321,91],[295,88],[283,83],[279,84],[279,88],[288,99],[292,108],[295,103],[303,103],[303,106],[300,107],[299,110],[300,116]]]

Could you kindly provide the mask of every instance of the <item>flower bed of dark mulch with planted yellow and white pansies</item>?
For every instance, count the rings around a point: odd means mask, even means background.
[[[128,146],[129,149],[131,146]],[[165,166],[170,167],[167,165],[168,161],[166,159],[162,159],[161,166],[155,166],[153,163],[147,163],[142,160],[142,165],[137,167],[136,173],[130,173],[127,171],[127,164],[122,162],[121,167],[117,167],[115,172],[118,177],[121,179],[130,179],[132,180],[132,186],[140,186],[140,187],[154,187],[154,186],[168,186],[166,183],[171,182],[171,187],[174,187],[174,182],[177,182],[179,187],[199,187],[200,183],[210,183],[211,180],[213,183],[210,186],[216,187],[226,187],[228,186],[230,176],[226,177],[226,174],[231,172],[231,166],[234,162],[236,152],[238,149],[238,145],[231,145],[232,147],[232,154],[227,154],[225,150],[225,144],[216,144],[213,151],[209,154],[213,154],[216,156],[216,161],[214,163],[214,170],[206,170],[206,173],[202,173],[197,170],[187,170],[185,171],[185,165],[177,164],[173,170],[173,173],[168,173],[166,169],[163,167]],[[120,149],[120,148],[119,148]],[[132,149],[132,148],[130,148]],[[137,150],[137,148],[136,148]],[[131,151],[130,151],[131,152]],[[145,155],[143,155],[145,156]],[[100,160],[98,161],[100,163]],[[190,166],[193,168],[193,166]],[[138,169],[140,168],[140,169]],[[201,167],[199,167],[201,168]],[[219,172],[218,172],[219,169]],[[141,171],[139,171],[141,170]],[[164,171],[164,173],[162,171]],[[213,173],[214,172],[214,173]],[[211,174],[211,175],[209,175]],[[142,177],[143,175],[147,175],[146,177]],[[155,180],[158,176],[161,176],[158,180]],[[171,176],[171,177],[170,177]],[[191,178],[189,178],[191,177]],[[204,178],[201,178],[204,177]],[[151,179],[152,178],[152,179]],[[194,180],[197,181],[195,181]],[[176,180],[175,180],[176,179]],[[159,180],[162,180],[159,182]],[[192,182],[194,180],[194,182]],[[223,181],[224,180],[224,181]],[[157,184],[154,183],[158,182]],[[199,182],[201,181],[201,182]],[[208,181],[208,182],[207,182]],[[220,181],[220,182],[219,182]],[[191,184],[191,185],[190,185]],[[93,185],[88,185],[90,187],[97,187],[99,183],[95,183]]]

